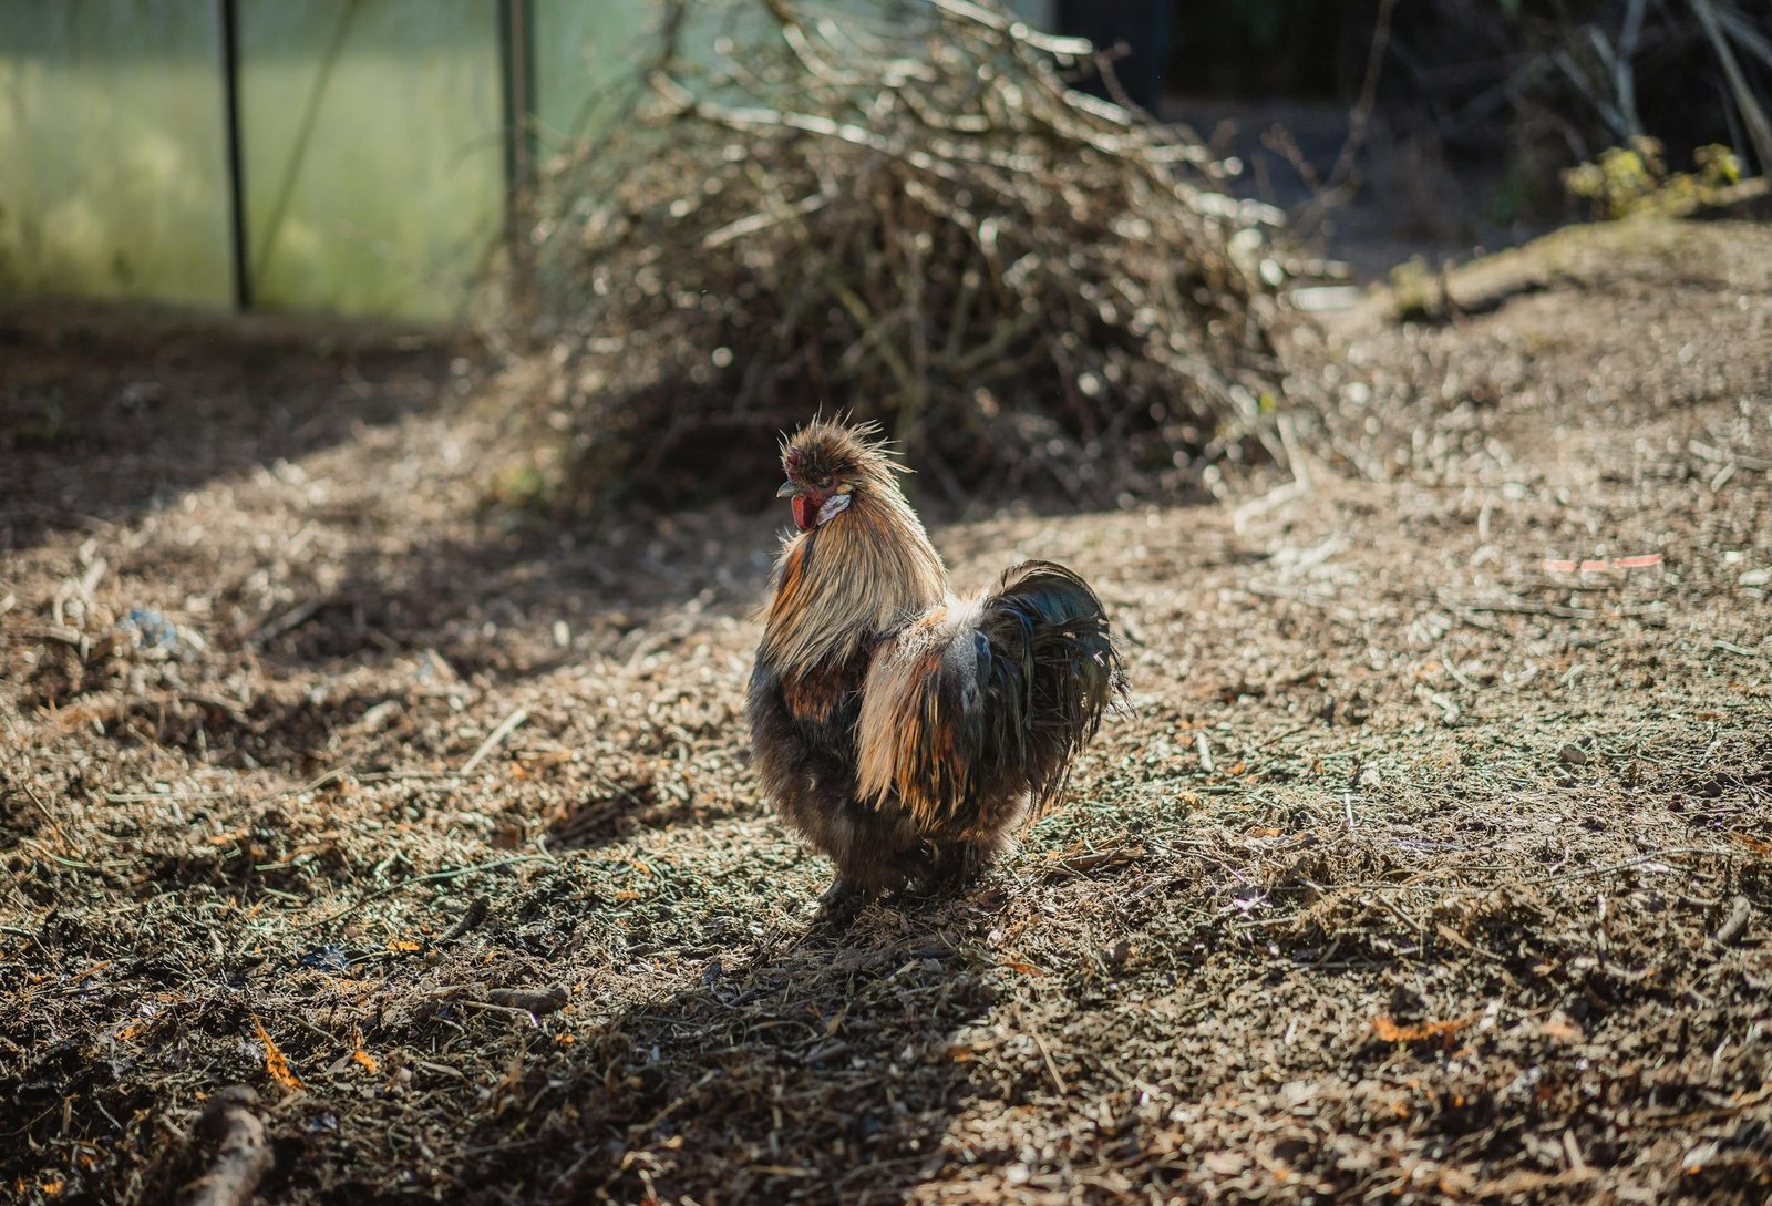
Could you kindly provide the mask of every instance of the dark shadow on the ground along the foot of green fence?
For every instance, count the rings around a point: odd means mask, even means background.
[[[448,397],[438,336],[57,315],[0,313],[0,551],[105,531]]]

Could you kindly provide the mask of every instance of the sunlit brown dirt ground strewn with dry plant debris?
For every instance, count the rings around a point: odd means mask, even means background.
[[[746,758],[785,514],[537,522],[445,347],[14,324],[0,1197],[170,1201],[245,1084],[275,1202],[1765,1202],[1772,228],[1451,283],[1333,322],[1366,476],[936,524],[1132,694],[840,939]]]

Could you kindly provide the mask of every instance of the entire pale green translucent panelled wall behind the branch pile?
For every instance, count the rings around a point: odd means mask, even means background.
[[[656,0],[509,0],[537,149],[595,133]],[[905,0],[914,9],[918,0]],[[861,0],[829,7],[879,12]],[[1019,0],[1038,19],[1053,0]],[[505,218],[498,0],[236,0],[253,308],[459,319]],[[0,0],[0,290],[234,301],[222,5]],[[760,4],[698,5],[684,81]],[[742,34],[741,34],[742,39]]]

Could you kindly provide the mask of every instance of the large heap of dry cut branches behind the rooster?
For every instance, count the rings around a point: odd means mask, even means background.
[[[1088,43],[966,0],[854,7],[666,9],[631,106],[544,179],[535,301],[579,483],[755,498],[820,409],[879,420],[955,499],[1283,460],[1279,214],[1077,90]]]

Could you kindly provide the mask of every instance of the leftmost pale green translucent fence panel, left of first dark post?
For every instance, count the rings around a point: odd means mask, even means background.
[[[234,301],[218,5],[0,0],[0,292]]]

